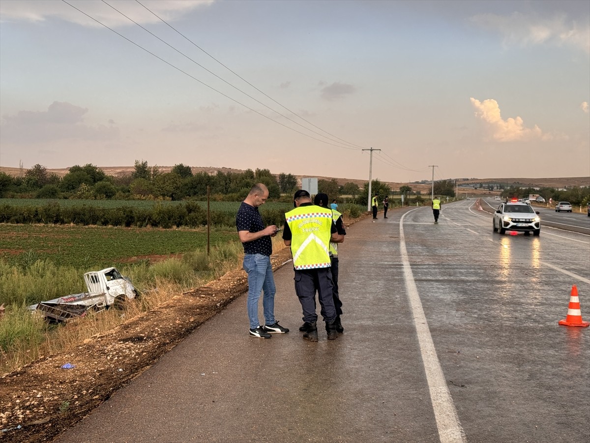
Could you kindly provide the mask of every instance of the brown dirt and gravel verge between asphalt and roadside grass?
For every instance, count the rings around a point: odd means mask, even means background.
[[[290,259],[289,248],[271,258]],[[194,291],[171,294],[155,310],[137,315],[85,344],[42,357],[0,378],[0,441],[37,442],[55,437],[109,399],[186,335],[247,290],[237,269]],[[72,369],[62,369],[65,363]]]

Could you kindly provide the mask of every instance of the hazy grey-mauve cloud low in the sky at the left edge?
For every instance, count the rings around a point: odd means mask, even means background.
[[[47,111],[19,111],[2,116],[2,140],[6,142],[50,142],[63,139],[104,141],[119,137],[119,128],[84,125],[87,108],[67,102],[53,102]]]

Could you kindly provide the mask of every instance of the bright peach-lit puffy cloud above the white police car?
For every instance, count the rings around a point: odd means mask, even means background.
[[[475,115],[484,121],[489,129],[491,138],[499,142],[548,140],[553,136],[544,134],[539,126],[526,128],[523,119],[520,117],[503,120],[500,115],[500,107],[494,99],[487,99],[483,102],[470,98],[471,105],[476,109]]]

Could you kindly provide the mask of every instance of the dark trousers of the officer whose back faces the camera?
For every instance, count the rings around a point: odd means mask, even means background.
[[[332,321],[336,318],[334,307],[332,272],[330,268],[295,270],[295,293],[299,297],[303,321],[313,323],[317,321],[316,291],[322,310],[320,313],[324,321]]]

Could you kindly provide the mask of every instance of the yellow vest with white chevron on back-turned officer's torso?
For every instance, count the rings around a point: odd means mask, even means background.
[[[291,230],[291,254],[295,269],[330,267],[332,210],[321,206],[300,206],[285,214]]]

